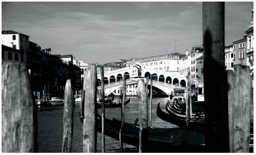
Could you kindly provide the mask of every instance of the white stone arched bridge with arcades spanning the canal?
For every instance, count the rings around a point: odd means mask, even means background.
[[[122,87],[123,78],[128,79],[127,85],[134,85],[140,79],[144,79],[146,82],[147,76],[150,77],[152,74],[153,89],[170,95],[174,89],[182,88],[187,86],[187,78],[184,75],[179,75],[175,72],[166,72],[157,69],[145,67],[144,64],[136,62],[129,64],[127,67],[109,71],[104,73],[104,87],[105,95],[109,95],[114,90]],[[97,89],[101,89],[102,81],[100,73],[97,74]],[[149,80],[150,81],[150,80]],[[150,82],[149,82],[150,84]],[[118,91],[119,93],[119,91]]]

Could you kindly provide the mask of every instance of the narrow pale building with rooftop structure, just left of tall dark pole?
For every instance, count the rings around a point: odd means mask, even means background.
[[[196,84],[196,59],[203,56],[203,45],[194,45],[191,49],[191,84]],[[199,61],[201,63],[201,61]],[[200,65],[200,64],[199,64]],[[202,68],[203,70],[203,68]]]

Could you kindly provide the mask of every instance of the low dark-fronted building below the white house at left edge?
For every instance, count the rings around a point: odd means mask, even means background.
[[[24,51],[2,44],[2,64],[4,61],[23,61]]]

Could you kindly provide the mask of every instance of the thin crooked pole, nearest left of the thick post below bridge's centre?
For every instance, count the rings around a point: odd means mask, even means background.
[[[124,102],[125,102],[125,92],[126,92],[126,79],[123,77],[123,98],[122,98],[122,110],[121,110],[121,128],[119,132],[119,143],[120,152],[123,152],[123,125],[124,125]]]

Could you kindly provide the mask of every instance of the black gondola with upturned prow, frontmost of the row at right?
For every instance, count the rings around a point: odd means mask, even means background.
[[[179,125],[179,126],[186,125],[186,116],[185,115],[180,115],[180,114],[174,113],[172,111],[169,111],[169,113],[163,112],[162,109],[160,108],[160,103],[158,103],[158,105],[157,105],[156,115],[160,119],[165,120],[174,125]],[[205,119],[191,118],[189,125],[190,126],[204,126],[204,124],[205,124]]]

